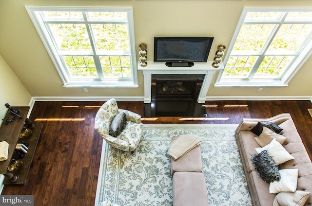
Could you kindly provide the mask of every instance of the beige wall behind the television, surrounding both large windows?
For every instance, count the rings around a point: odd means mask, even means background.
[[[136,46],[147,43],[153,60],[156,36],[215,37],[229,45],[244,6],[312,6],[311,0],[0,0],[0,55],[32,96],[143,96],[143,75],[138,88],[65,88],[25,5],[132,6]],[[137,48],[138,50],[138,48]],[[312,96],[312,57],[284,88],[215,88],[214,76],[207,96]]]

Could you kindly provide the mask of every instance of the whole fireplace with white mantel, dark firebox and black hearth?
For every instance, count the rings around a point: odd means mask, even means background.
[[[164,63],[139,63],[137,70],[144,75],[144,116],[204,116],[211,80],[218,70],[213,61],[196,62],[189,67],[167,67]]]

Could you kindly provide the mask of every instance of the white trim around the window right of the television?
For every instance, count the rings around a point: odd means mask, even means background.
[[[228,47],[227,54],[224,57],[224,65],[227,64],[227,61],[231,55],[231,51],[234,47],[235,40],[239,34],[239,31],[243,25],[244,19],[248,12],[258,12],[258,11],[312,11],[312,7],[244,7],[242,14],[238,20],[236,29],[234,31],[233,37],[231,39],[230,45]],[[307,43],[308,45],[312,45],[312,38]],[[300,68],[303,66],[303,64],[310,58],[312,55],[312,46],[311,48],[305,47],[303,50],[307,53],[305,56],[299,56],[292,64],[292,68],[289,69],[281,79],[275,79],[275,80],[229,80],[229,81],[221,81],[221,77],[223,74],[223,71],[220,71],[214,86],[215,87],[287,87],[288,83],[292,80],[293,76],[296,75],[296,73],[300,70]],[[301,51],[302,52],[302,51]]]

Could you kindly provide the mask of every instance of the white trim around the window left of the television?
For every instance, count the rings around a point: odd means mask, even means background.
[[[138,87],[137,80],[137,60],[136,60],[136,49],[135,49],[135,33],[134,33],[134,20],[133,20],[133,9],[132,7],[79,7],[79,6],[25,6],[30,18],[32,19],[35,28],[37,29],[39,36],[50,55],[52,62],[54,63],[59,76],[64,84],[64,87]],[[129,25],[129,44],[130,44],[130,53],[131,55],[131,79],[114,79],[114,80],[73,80],[69,78],[67,69],[63,68],[63,65],[60,64],[61,59],[59,54],[54,47],[50,47],[49,44],[53,45],[47,31],[41,29],[40,19],[35,15],[36,11],[45,11],[45,10],[58,10],[58,11],[124,11],[128,14],[128,25]]]

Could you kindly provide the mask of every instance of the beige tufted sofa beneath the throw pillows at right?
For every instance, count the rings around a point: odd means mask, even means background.
[[[297,189],[312,193],[312,163],[305,149],[299,133],[295,127],[292,117],[289,113],[282,113],[271,118],[244,118],[235,131],[239,152],[241,155],[244,171],[250,195],[254,206],[273,206],[273,201],[276,194],[269,193],[269,183],[264,182],[259,178],[255,171],[251,157],[254,154],[255,148],[260,146],[255,141],[254,134],[251,129],[261,121],[272,122],[283,129],[279,134],[287,137],[283,143],[283,147],[294,157],[280,164],[279,169],[298,169]],[[312,206],[312,194],[305,203],[305,206]]]

